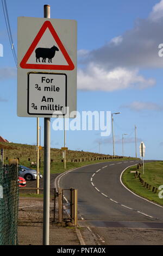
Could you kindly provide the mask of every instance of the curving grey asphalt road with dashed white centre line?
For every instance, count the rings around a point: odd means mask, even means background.
[[[163,208],[135,196],[120,181],[122,171],[140,161],[91,164],[59,175],[62,188],[78,188],[78,212],[92,227],[162,228]]]

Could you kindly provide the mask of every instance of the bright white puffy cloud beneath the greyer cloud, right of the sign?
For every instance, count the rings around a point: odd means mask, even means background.
[[[129,87],[144,89],[154,86],[153,79],[145,79],[138,74],[138,70],[114,68],[105,70],[100,65],[90,63],[85,70],[78,70],[78,89],[103,90],[112,92]]]

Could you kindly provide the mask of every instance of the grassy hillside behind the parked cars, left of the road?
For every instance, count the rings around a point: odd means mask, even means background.
[[[24,166],[30,167],[31,162],[36,162],[37,151],[35,145],[18,144],[18,143],[0,143],[0,147],[4,149],[4,163],[8,164],[9,159],[18,159],[18,162]],[[40,171],[43,170],[43,147],[40,150]],[[116,156],[114,160],[118,160]],[[124,157],[123,160],[134,159],[131,157]],[[111,155],[90,153],[85,151],[66,151],[66,169],[80,167],[85,164],[101,161],[112,161]],[[62,150],[51,148],[51,172],[63,172]]]

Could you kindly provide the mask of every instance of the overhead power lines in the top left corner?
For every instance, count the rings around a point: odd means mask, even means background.
[[[2,7],[3,7],[5,25],[7,27],[7,32],[8,32],[8,36],[9,36],[10,46],[11,46],[12,54],[14,56],[14,61],[15,61],[16,67],[17,67],[17,56],[16,56],[15,47],[14,47],[14,41],[12,39],[12,33],[11,33],[11,27],[10,27],[10,21],[9,21],[8,8],[7,8],[6,0],[2,0]]]

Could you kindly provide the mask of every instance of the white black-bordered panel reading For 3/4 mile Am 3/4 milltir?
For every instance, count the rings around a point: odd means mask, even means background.
[[[65,115],[67,76],[45,72],[28,74],[28,114]]]

